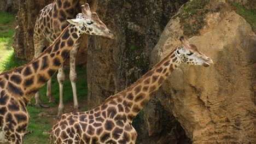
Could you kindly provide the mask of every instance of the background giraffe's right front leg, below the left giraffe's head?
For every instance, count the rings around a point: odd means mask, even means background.
[[[80,40],[78,40],[77,43],[75,43],[75,45],[69,55],[69,57],[70,57],[69,79],[70,79],[71,85],[72,85],[74,109],[76,111],[78,111],[79,105],[78,105],[78,100],[77,100],[77,86],[75,83],[75,81],[77,80],[77,72],[75,71],[75,57],[77,56],[79,46],[80,46]]]

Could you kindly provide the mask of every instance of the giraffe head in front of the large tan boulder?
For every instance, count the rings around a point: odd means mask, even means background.
[[[189,44],[183,36],[179,40],[181,40],[182,46],[177,47],[175,54],[182,63],[203,65],[204,67],[209,67],[210,64],[213,64],[211,58],[200,52],[194,44]]]

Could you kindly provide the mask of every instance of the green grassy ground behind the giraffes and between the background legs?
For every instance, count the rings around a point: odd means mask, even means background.
[[[9,70],[18,67],[26,62],[20,61],[14,55],[12,47],[13,35],[14,35],[14,20],[15,16],[0,11],[0,73],[5,70]],[[69,70],[66,68],[66,81],[63,87],[63,101],[65,104],[65,112],[73,111],[73,97],[72,87],[68,79]],[[83,67],[77,67],[77,95],[79,100],[80,110],[87,110],[85,106],[85,99],[87,97],[87,82],[86,82],[86,70]],[[27,106],[28,112],[30,113],[30,123],[28,125],[28,131],[24,139],[24,143],[36,144],[36,143],[49,143],[49,131],[51,125],[56,122],[57,105],[59,101],[59,83],[57,82],[56,74],[52,80],[53,96],[56,103],[48,103],[46,98],[46,86],[40,89],[40,95],[45,105],[51,106],[49,109],[38,109],[34,106],[34,98],[31,103]]]

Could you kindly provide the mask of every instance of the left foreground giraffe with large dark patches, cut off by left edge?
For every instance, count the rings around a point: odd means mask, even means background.
[[[82,34],[114,38],[88,4],[82,5],[76,19],[67,21],[71,24],[36,59],[0,74],[0,143],[22,143],[29,119],[26,105],[56,73]]]

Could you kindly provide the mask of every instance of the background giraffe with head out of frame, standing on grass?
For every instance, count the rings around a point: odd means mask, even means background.
[[[44,50],[44,41],[47,40],[50,43],[60,35],[62,30],[67,27],[67,19],[73,19],[76,14],[79,13],[80,0],[55,0],[53,3],[46,5],[42,10],[40,10],[39,16],[37,17],[36,25],[34,27],[34,58],[37,58],[40,53]],[[75,43],[73,49],[69,54],[70,58],[70,72],[69,79],[72,85],[73,91],[73,101],[74,109],[78,110],[78,100],[77,100],[77,89],[76,89],[76,79],[77,73],[75,72],[75,56],[79,50],[80,40]],[[59,73],[57,76],[59,87],[60,87],[60,98],[63,97],[63,81],[65,80],[65,73],[63,70],[63,65],[59,68]],[[49,98],[49,102],[54,102],[53,95],[51,94],[51,79],[47,83],[46,96]],[[49,107],[43,105],[40,100],[39,92],[35,95],[36,105],[38,107]],[[60,101],[58,116],[63,113],[64,106],[63,101]]]

